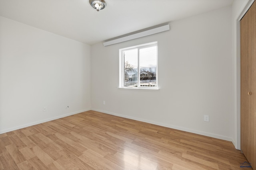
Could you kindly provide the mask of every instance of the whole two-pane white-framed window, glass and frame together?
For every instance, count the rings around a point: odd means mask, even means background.
[[[120,88],[157,88],[157,42],[120,49],[119,55]]]

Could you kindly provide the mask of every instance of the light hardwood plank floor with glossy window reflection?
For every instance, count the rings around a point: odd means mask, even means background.
[[[229,141],[96,111],[0,135],[0,170],[241,170]]]

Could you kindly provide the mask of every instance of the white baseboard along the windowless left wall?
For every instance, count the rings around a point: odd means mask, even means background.
[[[62,117],[67,117],[67,116],[70,116],[70,115],[75,115],[77,113],[82,113],[84,111],[89,111],[89,110],[91,110],[91,109],[84,109],[84,110],[80,110],[80,111],[75,111],[75,112],[68,113],[68,114],[65,114],[65,115],[60,115],[60,116],[52,117],[52,118],[49,118],[49,119],[44,119],[44,120],[41,120],[41,121],[35,121],[35,122],[28,123],[28,124],[25,124],[25,125],[20,125],[20,126],[12,127],[12,128],[9,128],[9,129],[4,129],[4,130],[0,131],[0,134],[7,133],[7,132],[10,132],[10,131],[15,131],[15,130],[18,130],[18,129],[22,129],[24,127],[29,127],[29,126],[37,125],[37,124],[44,123],[44,122],[47,122],[47,121],[52,121],[52,120],[55,120],[55,119],[60,119]]]

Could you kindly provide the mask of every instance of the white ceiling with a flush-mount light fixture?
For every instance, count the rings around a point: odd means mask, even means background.
[[[0,16],[89,45],[230,6],[233,0],[0,0]]]

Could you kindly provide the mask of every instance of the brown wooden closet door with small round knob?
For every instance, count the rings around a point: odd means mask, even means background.
[[[241,150],[256,170],[256,2],[240,21]]]

